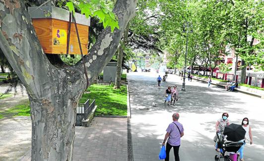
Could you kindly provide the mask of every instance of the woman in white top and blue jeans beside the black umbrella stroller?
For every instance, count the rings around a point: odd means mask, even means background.
[[[250,141],[250,145],[253,144],[253,140],[252,140],[251,127],[249,126],[249,119],[247,117],[243,118],[241,125],[246,130],[244,145],[239,149],[240,161],[244,161],[243,159],[244,146],[249,141]]]

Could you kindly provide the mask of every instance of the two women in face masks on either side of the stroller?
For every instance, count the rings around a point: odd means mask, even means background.
[[[223,135],[223,132],[224,132],[225,127],[230,124],[228,117],[229,117],[229,114],[227,112],[224,112],[222,114],[222,117],[219,118],[216,121],[215,129],[216,129],[216,132],[217,133],[222,133],[222,135]],[[247,117],[245,117],[245,118],[242,119],[241,126],[246,131],[245,138],[243,139],[243,143],[244,144],[239,149],[240,161],[244,161],[244,147],[245,147],[246,143],[248,143],[248,142],[250,144],[253,144],[253,137],[252,137],[251,127],[249,126],[249,119]],[[220,152],[220,149],[218,148],[217,134],[214,137],[214,142],[215,142],[215,150],[217,152]]]

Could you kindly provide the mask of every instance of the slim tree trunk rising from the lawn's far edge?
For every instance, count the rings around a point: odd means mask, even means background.
[[[115,89],[120,89],[121,85],[121,71],[122,71],[122,60],[123,60],[123,48],[122,44],[118,49],[118,56],[117,56],[117,72],[116,72],[116,82],[115,82]]]

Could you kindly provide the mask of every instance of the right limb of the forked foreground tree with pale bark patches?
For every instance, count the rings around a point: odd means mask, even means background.
[[[89,55],[84,57],[90,83],[95,80],[97,75],[115,54],[121,36],[128,22],[135,14],[136,2],[137,0],[117,0],[113,11],[118,16],[120,29],[115,29],[114,33],[111,33],[110,28],[103,30],[96,43],[91,48]],[[75,67],[83,70],[81,61],[79,61]]]

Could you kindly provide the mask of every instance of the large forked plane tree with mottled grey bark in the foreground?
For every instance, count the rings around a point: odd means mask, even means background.
[[[43,0],[36,0],[40,3]],[[115,54],[137,0],[117,0],[120,30],[102,31],[85,56],[89,83]],[[24,0],[0,0],[0,49],[27,89],[32,119],[32,161],[72,161],[75,114],[86,89],[82,62],[58,67],[44,54]]]

